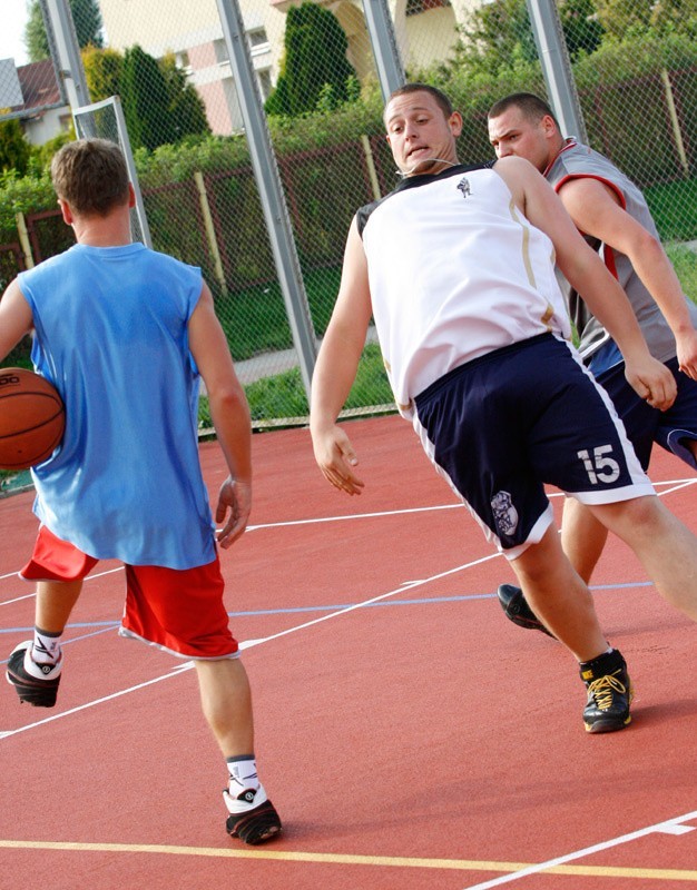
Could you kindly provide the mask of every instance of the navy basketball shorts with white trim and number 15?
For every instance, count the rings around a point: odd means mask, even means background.
[[[552,523],[544,485],[591,505],[655,494],[608,394],[551,334],[468,362],[414,402],[424,451],[509,560]]]

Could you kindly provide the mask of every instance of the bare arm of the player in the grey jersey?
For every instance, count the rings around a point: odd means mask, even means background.
[[[597,179],[571,179],[561,187],[559,197],[581,231],[629,258],[673,330],[680,370],[697,379],[697,330],[660,241],[622,209],[611,188]]]

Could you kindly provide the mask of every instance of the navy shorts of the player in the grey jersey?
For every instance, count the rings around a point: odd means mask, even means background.
[[[677,358],[665,364],[678,387],[676,399],[668,411],[652,408],[635,393],[625,377],[624,363],[599,374],[597,379],[612,399],[645,469],[649,465],[655,442],[697,469],[695,456],[687,447],[689,439],[697,441],[697,382],[679,370]]]

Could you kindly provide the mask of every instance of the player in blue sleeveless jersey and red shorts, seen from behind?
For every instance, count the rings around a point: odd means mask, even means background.
[[[33,330],[35,368],[66,405],[61,445],[32,471],[41,524],[20,574],[38,582],[36,630],[10,655],[7,679],[20,701],[55,705],[82,580],[99,560],[121,560],[119,633],[194,661],[228,765],[226,829],[259,843],[281,821],[257,777],[197,438],[203,377],[229,469],[216,506],[217,544],[228,547],[252,505],[245,394],[200,269],[131,243],[134,190],[118,146],[71,142],[51,175],[77,244],[20,274],[0,301],[0,359]]]

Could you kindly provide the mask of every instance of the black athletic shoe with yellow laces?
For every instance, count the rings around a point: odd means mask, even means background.
[[[580,665],[588,689],[583,709],[586,732],[617,732],[631,723],[629,704],[634,698],[627,663],[613,649]]]

